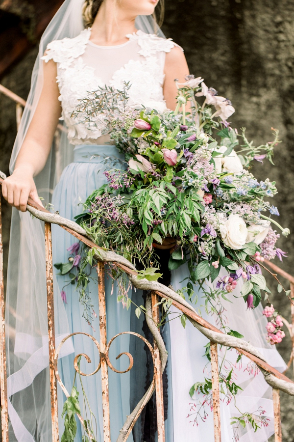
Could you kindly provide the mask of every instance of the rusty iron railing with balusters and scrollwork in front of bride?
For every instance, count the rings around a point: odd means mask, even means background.
[[[15,101],[17,110],[17,124],[19,125],[22,107],[25,105],[25,101],[20,97],[13,94],[8,89],[4,88],[0,85],[0,92],[10,97],[13,101]],[[2,183],[2,178],[0,177],[0,185]],[[39,211],[49,213],[46,209],[41,206],[36,205],[32,200],[28,201],[29,206],[38,209]],[[68,232],[70,232],[75,238],[79,241],[83,242],[87,247],[94,248],[98,247],[88,238],[82,236],[79,233],[76,233],[69,227],[65,225],[61,225],[61,228],[64,228]],[[62,390],[69,396],[68,391],[62,384],[60,379],[58,369],[57,369],[57,360],[60,349],[63,343],[69,339],[74,334],[86,334],[74,332],[69,336],[66,336],[58,348],[55,348],[55,334],[54,334],[54,304],[53,304],[53,270],[52,270],[52,241],[51,241],[51,224],[50,222],[45,222],[45,248],[46,248],[46,276],[47,276],[47,300],[48,300],[48,332],[49,332],[49,373],[50,373],[50,397],[51,397],[51,414],[52,414],[52,441],[58,442],[58,411],[57,411],[57,382],[60,384]],[[136,271],[131,270],[123,264],[115,262],[117,267],[119,267],[123,272],[127,275],[137,275]],[[294,277],[287,274],[279,267],[274,264],[267,262],[267,264],[271,267],[271,269],[281,276],[286,277],[286,279],[291,284],[291,297],[294,297]],[[110,442],[110,416],[109,416],[109,397],[108,397],[108,367],[117,373],[123,373],[116,370],[108,357],[108,352],[111,343],[114,339],[117,338],[116,335],[110,339],[107,343],[106,336],[106,307],[105,307],[105,286],[104,286],[104,263],[98,262],[97,267],[98,272],[98,302],[99,302],[99,328],[100,328],[100,344],[98,341],[91,335],[87,334],[89,338],[91,338],[96,344],[100,361],[96,370],[91,374],[79,373],[82,376],[91,376],[96,374],[99,370],[101,372],[101,381],[102,381],[102,403],[103,403],[103,433],[104,433],[104,442]],[[172,302],[172,304],[180,310],[180,312],[184,313],[188,318],[192,321],[195,321],[197,324],[203,326],[207,330],[217,331],[220,335],[222,332],[205,321],[203,318],[198,316],[195,312],[189,310],[187,306],[182,305],[180,302],[172,300],[165,293],[162,293],[159,290],[153,290],[151,293],[151,304],[152,304],[152,319],[154,323],[158,326],[159,324],[159,307],[157,305],[158,297],[168,298]],[[291,338],[292,338],[292,354],[290,358],[290,363],[288,366],[290,367],[291,362],[294,359],[294,307],[292,306],[292,323],[287,323],[287,325]],[[1,235],[1,205],[0,205],[0,315],[1,315],[1,327],[0,327],[0,394],[1,394],[1,423],[2,423],[2,441],[8,442],[8,411],[7,411],[7,388],[6,388],[6,357],[5,357],[5,328],[4,328],[4,282],[3,282],[3,247],[2,247],[2,235]],[[126,441],[128,436],[130,435],[132,428],[139,417],[140,413],[144,409],[146,403],[152,395],[153,390],[155,389],[156,394],[156,409],[157,409],[157,429],[158,429],[158,442],[165,442],[165,431],[164,431],[164,407],[163,407],[163,387],[162,387],[162,357],[160,355],[160,351],[154,341],[153,346],[143,337],[138,335],[137,333],[125,331],[120,334],[133,334],[137,337],[141,338],[148,346],[154,364],[154,376],[151,382],[151,385],[148,389],[150,392],[149,395],[145,395],[145,400],[141,403],[140,409],[137,411],[137,414],[132,422],[132,425],[126,431],[123,441]],[[253,362],[257,364],[262,370],[271,375],[274,375],[277,379],[287,381],[288,383],[293,383],[290,379],[288,379],[284,374],[279,373],[276,369],[267,364],[264,360],[259,359],[258,357],[252,355],[248,351],[235,347],[236,350],[245,355],[247,358],[251,359]],[[211,340],[210,343],[210,351],[211,351],[211,376],[212,376],[212,394],[213,394],[213,417],[214,417],[214,434],[215,434],[215,442],[221,442],[221,415],[220,415],[220,391],[219,391],[219,365],[218,365],[218,344]],[[130,360],[129,367],[126,371],[129,371],[133,366],[133,358],[129,353],[122,353],[118,356],[120,358],[123,354],[128,356]],[[74,359],[74,368],[78,371],[78,358],[80,356],[84,356],[88,361],[89,358],[87,355],[77,355]],[[281,433],[281,416],[280,416],[280,395],[279,389],[273,388],[273,407],[274,407],[274,431],[275,431],[275,442],[282,442],[282,433]],[[81,423],[83,424],[82,416],[78,415]]]

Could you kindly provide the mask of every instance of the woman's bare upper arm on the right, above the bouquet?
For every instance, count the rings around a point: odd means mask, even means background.
[[[176,107],[175,97],[177,96],[177,87],[175,79],[179,83],[185,82],[185,76],[189,74],[189,68],[186,57],[182,50],[175,46],[171,52],[167,53],[164,66],[165,81],[163,85],[163,95],[168,109],[174,111]]]

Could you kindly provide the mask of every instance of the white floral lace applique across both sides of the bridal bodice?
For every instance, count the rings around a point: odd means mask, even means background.
[[[104,117],[97,115],[95,121],[85,124],[84,112],[75,118],[71,115],[80,100],[91,91],[98,91],[104,83],[93,66],[83,59],[91,37],[91,28],[84,29],[77,37],[64,38],[49,43],[47,53],[42,57],[45,62],[53,59],[57,63],[57,83],[59,100],[62,104],[62,118],[68,127],[68,138],[72,144],[96,144],[103,135]],[[116,70],[109,85],[122,90],[124,83],[130,83],[129,104],[132,107],[145,107],[163,112],[166,102],[163,96],[164,56],[176,45],[171,39],[164,39],[153,34],[138,31],[127,35],[129,40],[136,40],[136,52],[140,60],[125,58],[126,63]],[[126,48],[126,47],[125,47]],[[105,49],[107,50],[107,49]],[[110,49],[112,50],[112,49]]]

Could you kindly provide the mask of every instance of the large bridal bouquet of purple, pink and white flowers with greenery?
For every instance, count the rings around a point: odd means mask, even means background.
[[[108,184],[88,197],[78,221],[99,246],[141,262],[152,277],[154,249],[175,238],[169,269],[188,263],[189,294],[205,278],[217,279],[226,292],[242,278],[245,302],[255,307],[261,291],[269,292],[260,265],[285,256],[276,248],[275,228],[290,233],[271,218],[279,215],[269,202],[275,182],[250,172],[255,161],[272,162],[278,131],[272,129],[272,142],[255,147],[244,128],[239,135],[230,127],[234,108],[215,89],[193,76],[177,85],[175,111],[162,114],[128,107],[127,84],[124,91],[110,88],[83,100],[89,122],[104,112],[105,134],[125,162],[105,171]],[[227,275],[218,279],[221,267]]]

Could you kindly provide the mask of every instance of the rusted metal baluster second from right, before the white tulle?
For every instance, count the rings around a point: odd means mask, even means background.
[[[219,388],[218,344],[210,342],[212,406],[215,442],[221,442],[221,408]]]

